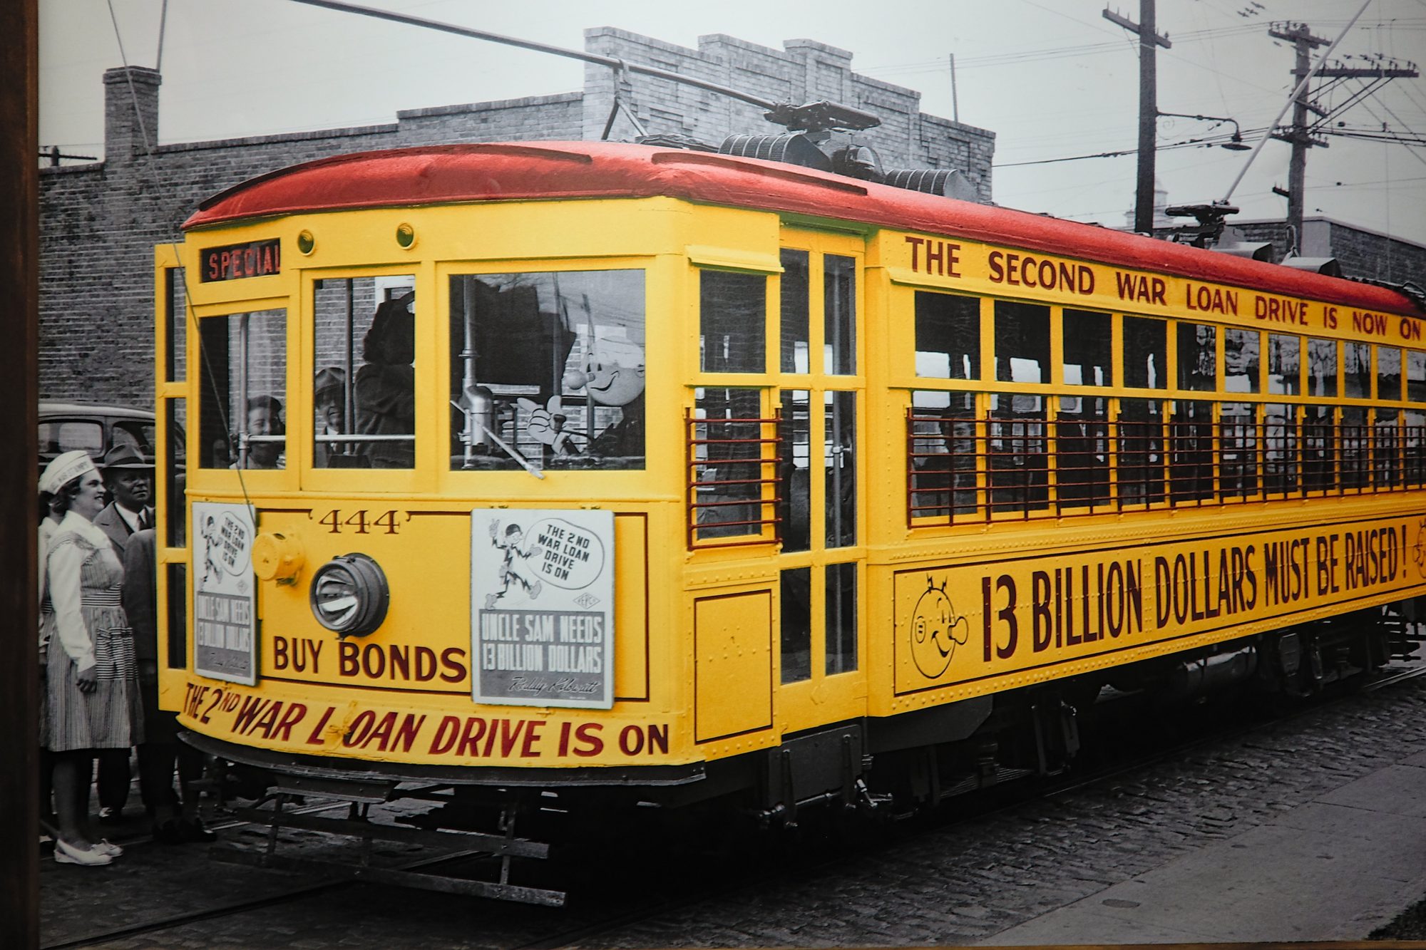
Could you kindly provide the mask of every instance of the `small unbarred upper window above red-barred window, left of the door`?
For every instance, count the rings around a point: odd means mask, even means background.
[[[699,368],[767,372],[767,278],[699,272]]]

